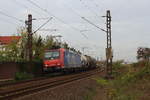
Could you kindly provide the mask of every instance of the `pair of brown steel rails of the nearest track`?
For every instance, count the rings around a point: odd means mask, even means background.
[[[45,90],[48,88],[50,89],[52,87],[57,87],[57,86],[62,85],[62,84],[66,84],[69,82],[73,82],[76,80],[90,77],[92,75],[99,73],[99,71],[100,70],[93,70],[93,71],[89,71],[89,72],[79,73],[79,74],[73,75],[71,77],[58,79],[58,80],[56,79],[56,80],[53,80],[51,82],[46,82],[46,83],[38,84],[35,86],[22,87],[19,89],[14,89],[11,91],[2,92],[2,93],[0,93],[0,99],[2,99],[2,100],[13,99],[13,98],[18,98],[20,96],[25,96],[25,95],[28,95],[31,93],[35,93],[35,92],[38,92],[41,90]]]

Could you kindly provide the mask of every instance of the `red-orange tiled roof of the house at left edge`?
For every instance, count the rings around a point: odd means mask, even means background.
[[[19,41],[21,36],[0,36],[0,45],[7,45],[13,41]]]

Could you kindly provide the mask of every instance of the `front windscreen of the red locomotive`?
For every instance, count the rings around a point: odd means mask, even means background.
[[[46,60],[58,59],[59,55],[60,55],[59,51],[49,51],[45,52],[44,58]]]

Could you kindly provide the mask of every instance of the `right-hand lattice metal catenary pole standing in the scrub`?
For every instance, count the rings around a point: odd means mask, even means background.
[[[112,77],[112,45],[111,45],[111,15],[110,10],[107,10],[106,14],[106,33],[107,33],[107,48],[106,48],[106,77]]]

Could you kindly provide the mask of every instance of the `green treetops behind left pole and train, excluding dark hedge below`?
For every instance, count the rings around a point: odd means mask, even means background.
[[[27,59],[27,49],[28,49],[28,33],[26,28],[20,28],[18,30],[19,34],[14,36],[21,36],[19,41],[12,41],[8,45],[4,45],[4,50],[0,50],[0,62],[22,62],[28,61]],[[70,49],[80,53],[73,47],[70,47],[67,43],[62,43],[54,38],[54,36],[49,35],[46,38],[42,38],[41,35],[33,35],[32,38],[32,50],[33,50],[33,59],[39,60],[43,59],[44,51],[50,49],[58,49],[63,47],[65,49]]]

